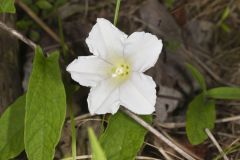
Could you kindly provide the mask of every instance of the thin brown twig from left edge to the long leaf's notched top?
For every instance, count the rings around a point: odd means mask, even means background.
[[[24,43],[29,45],[32,49],[34,49],[34,50],[36,49],[37,45],[33,41],[31,41],[30,39],[24,37],[21,33],[16,31],[15,29],[12,29],[12,28],[8,27],[6,24],[4,24],[1,21],[0,21],[0,28],[2,28],[5,31],[9,32],[10,34],[12,34],[17,39],[23,41]]]

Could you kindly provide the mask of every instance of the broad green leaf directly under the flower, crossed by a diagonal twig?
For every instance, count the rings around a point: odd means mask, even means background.
[[[151,122],[151,116],[143,116]],[[100,143],[110,160],[134,160],[140,150],[147,130],[121,111],[109,119]]]

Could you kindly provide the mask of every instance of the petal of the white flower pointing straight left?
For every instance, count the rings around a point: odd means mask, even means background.
[[[112,65],[96,56],[80,56],[67,66],[73,80],[83,86],[96,86],[108,78]]]

